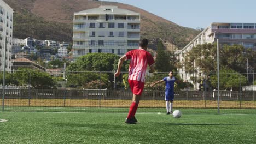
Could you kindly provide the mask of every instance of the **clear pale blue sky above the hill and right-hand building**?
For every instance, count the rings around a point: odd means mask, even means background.
[[[106,0],[130,4],[183,27],[206,28],[212,22],[256,22],[254,0]]]

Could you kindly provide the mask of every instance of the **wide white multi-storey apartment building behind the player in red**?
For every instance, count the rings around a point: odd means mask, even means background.
[[[140,15],[117,6],[100,6],[74,13],[73,58],[92,52],[124,55],[137,49]]]

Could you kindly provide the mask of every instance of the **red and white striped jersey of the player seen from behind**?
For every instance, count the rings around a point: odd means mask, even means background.
[[[152,55],[144,49],[131,50],[125,54],[126,59],[131,59],[128,80],[145,82],[147,66],[155,63]]]

